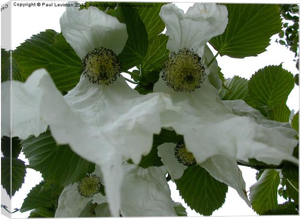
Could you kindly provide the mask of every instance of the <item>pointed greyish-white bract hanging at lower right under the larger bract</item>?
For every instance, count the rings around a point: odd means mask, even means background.
[[[245,181],[236,161],[232,161],[222,155],[216,155],[208,158],[200,166],[205,168],[216,180],[236,189],[240,197],[250,206],[250,201],[245,191]]]

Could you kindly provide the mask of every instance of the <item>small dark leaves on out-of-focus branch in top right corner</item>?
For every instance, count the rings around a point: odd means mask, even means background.
[[[299,69],[299,5],[280,4],[279,7],[284,22],[283,29],[279,33],[280,39],[276,41],[295,53],[294,61]]]

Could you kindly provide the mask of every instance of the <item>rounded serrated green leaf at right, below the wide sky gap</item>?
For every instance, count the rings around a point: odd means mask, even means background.
[[[257,106],[272,108],[284,104],[294,88],[294,77],[282,66],[258,70],[248,82],[248,96]]]

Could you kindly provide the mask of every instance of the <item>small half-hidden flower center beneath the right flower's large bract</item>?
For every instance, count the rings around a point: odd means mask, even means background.
[[[174,155],[178,163],[186,166],[193,166],[196,164],[195,158],[191,152],[188,152],[184,141],[180,141],[174,148]]]

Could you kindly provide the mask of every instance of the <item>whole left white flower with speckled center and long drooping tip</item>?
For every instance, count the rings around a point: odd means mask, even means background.
[[[138,164],[161,130],[160,113],[169,95],[140,95],[119,76],[116,55],[124,48],[126,25],[95,7],[67,7],[60,19],[63,36],[83,59],[84,72],[67,95],[40,69],[25,83],[12,83],[12,136],[26,139],[50,127],[57,144],[69,144],[81,157],[100,165],[113,216],[119,216],[122,163]],[[2,104],[10,105],[9,82]],[[5,95],[6,93],[6,95]],[[6,113],[6,114],[5,114]],[[7,118],[5,118],[7,116]],[[2,113],[1,135],[9,136],[9,110]]]

